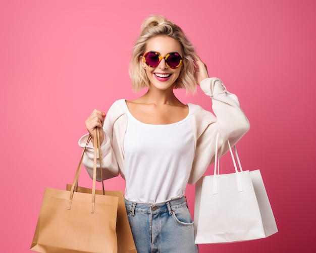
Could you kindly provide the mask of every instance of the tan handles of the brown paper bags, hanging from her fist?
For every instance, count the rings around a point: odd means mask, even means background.
[[[87,139],[87,143],[83,149],[75,177],[71,186],[70,190],[70,196],[69,196],[69,202],[68,202],[68,210],[71,209],[71,204],[72,204],[72,198],[74,195],[74,192],[77,191],[78,188],[78,180],[79,180],[79,175],[80,175],[80,169],[82,166],[82,161],[84,157],[85,150],[87,148],[87,145],[89,141],[91,140],[92,136],[89,135]],[[96,141],[95,141],[96,140]],[[94,158],[93,158],[93,176],[92,176],[92,201],[91,201],[91,213],[94,213],[94,206],[95,206],[95,185],[96,185],[96,162],[97,162],[97,150],[98,150],[98,155],[99,155],[99,163],[100,163],[100,175],[101,175],[101,183],[102,183],[102,192],[104,195],[104,183],[103,183],[103,175],[102,175],[102,164],[101,164],[101,148],[100,148],[100,137],[99,137],[99,129],[96,127],[95,128],[95,133],[94,133],[94,142],[93,142],[93,148],[94,148]]]

